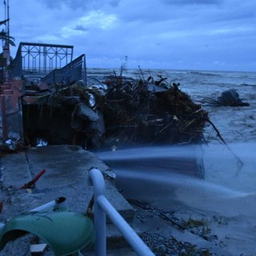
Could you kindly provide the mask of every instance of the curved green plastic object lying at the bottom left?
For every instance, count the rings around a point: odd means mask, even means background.
[[[27,212],[11,218],[0,232],[0,250],[28,233],[42,238],[58,256],[74,254],[94,242],[92,220],[66,208]]]

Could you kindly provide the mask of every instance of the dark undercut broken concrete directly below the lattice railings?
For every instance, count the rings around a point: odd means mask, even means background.
[[[82,145],[97,134],[98,114],[90,107],[88,88],[79,82],[23,97],[26,144]]]

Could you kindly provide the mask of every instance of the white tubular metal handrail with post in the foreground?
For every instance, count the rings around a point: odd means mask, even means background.
[[[105,182],[98,169],[90,170],[90,180],[94,186],[94,229],[95,255],[106,256],[106,214],[118,228],[126,241],[140,256],[154,256],[154,253],[135,233],[124,218],[114,209],[114,206],[105,197]]]

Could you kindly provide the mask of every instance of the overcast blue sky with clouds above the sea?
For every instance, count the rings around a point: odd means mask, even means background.
[[[9,1],[17,46],[73,45],[88,67],[256,70],[255,0]]]

